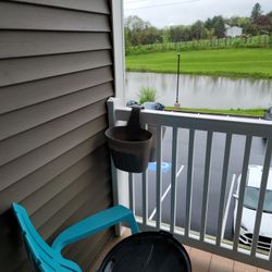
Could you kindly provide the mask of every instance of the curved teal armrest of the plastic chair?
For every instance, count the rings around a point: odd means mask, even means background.
[[[90,215],[63,231],[54,239],[52,248],[61,251],[69,244],[86,238],[91,234],[106,230],[123,221],[129,223],[133,234],[139,232],[132,211],[123,206],[114,206],[113,208]]]

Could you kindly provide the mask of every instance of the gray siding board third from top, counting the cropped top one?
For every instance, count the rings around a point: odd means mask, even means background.
[[[0,33],[0,59],[111,48],[109,33],[5,30]]]

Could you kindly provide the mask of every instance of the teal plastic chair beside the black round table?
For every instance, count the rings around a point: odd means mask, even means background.
[[[120,222],[127,222],[132,234],[139,232],[132,211],[123,206],[114,206],[70,226],[55,238],[50,247],[35,230],[25,208],[17,203],[13,203],[12,207],[35,271],[79,272],[82,269],[75,262],[62,257],[61,250],[65,246]]]

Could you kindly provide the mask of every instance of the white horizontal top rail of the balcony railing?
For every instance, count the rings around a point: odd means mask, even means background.
[[[118,107],[115,108],[115,118],[116,120],[127,121],[129,112],[129,108]],[[148,124],[199,131],[213,131],[259,137],[272,136],[272,122],[261,119],[143,110],[140,120]]]

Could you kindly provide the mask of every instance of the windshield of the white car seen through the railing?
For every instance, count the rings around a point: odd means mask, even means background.
[[[259,188],[250,186],[246,187],[244,200],[244,206],[246,208],[257,210],[259,191]],[[272,213],[272,190],[267,190],[265,193],[263,211]]]

